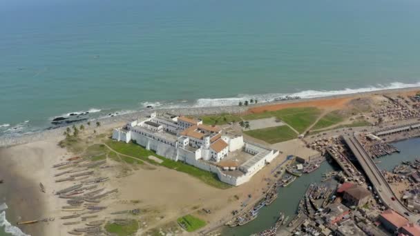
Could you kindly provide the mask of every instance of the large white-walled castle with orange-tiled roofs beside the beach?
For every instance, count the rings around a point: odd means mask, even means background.
[[[173,161],[216,173],[227,184],[238,186],[278,155],[258,144],[244,141],[242,135],[223,133],[218,126],[206,126],[201,120],[176,115],[151,115],[113,130],[113,139],[135,141],[147,150]],[[229,156],[243,161],[231,160]],[[242,162],[242,163],[241,163]]]

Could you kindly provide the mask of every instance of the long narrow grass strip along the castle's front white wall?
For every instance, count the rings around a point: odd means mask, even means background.
[[[147,161],[150,164],[153,164],[156,166],[164,166],[166,168],[177,170],[182,173],[187,173],[188,175],[201,179],[204,183],[209,184],[210,186],[213,186],[216,188],[222,188],[222,189],[231,187],[229,184],[226,184],[220,181],[218,176],[214,173],[211,173],[206,170],[201,170],[194,166],[184,164],[180,161],[172,161],[170,159],[166,159],[165,157],[161,157],[160,155],[157,155],[151,150],[146,150],[140,145],[133,144],[133,143],[126,144],[124,142],[114,141],[111,139],[106,141],[106,144],[110,146],[111,148],[113,148],[113,150],[117,151],[118,153],[129,155],[131,157],[136,157],[142,161]],[[148,157],[151,155],[158,157],[163,162],[159,164],[158,162],[149,159]],[[124,159],[124,161],[127,161],[127,160]]]

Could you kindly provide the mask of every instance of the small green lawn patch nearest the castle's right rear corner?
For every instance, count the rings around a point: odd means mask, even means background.
[[[245,134],[266,141],[269,144],[276,144],[280,141],[296,139],[298,135],[289,126],[277,126],[270,128],[262,128],[259,130],[245,131]]]

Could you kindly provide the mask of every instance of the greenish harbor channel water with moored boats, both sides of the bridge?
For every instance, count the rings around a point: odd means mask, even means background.
[[[392,152],[389,155],[382,156],[380,161],[376,161],[376,165],[379,169],[392,172],[396,166],[407,166],[407,164],[413,165],[419,163],[416,160],[420,160],[420,138],[405,139],[392,143],[391,145],[394,146],[396,150],[400,150],[400,152]],[[287,175],[289,174],[285,173],[283,177]],[[292,175],[289,176],[292,177]],[[297,177],[292,184],[289,184],[285,188],[279,188],[279,194],[276,200],[269,206],[261,208],[258,211],[258,217],[256,217],[256,219],[244,226],[225,228],[222,231],[222,235],[258,235],[258,233],[260,233],[260,235],[275,235],[272,233],[272,230],[276,225],[280,212],[289,218],[289,222],[286,222],[285,220],[286,224],[298,222],[298,220],[300,220],[298,223],[303,223],[307,217],[304,213],[296,215],[299,205],[300,208],[302,208],[303,205],[304,212],[309,215],[314,213],[314,204],[316,204],[317,207],[325,208],[327,199],[330,199],[327,195],[332,195],[332,190],[335,190],[336,184],[338,183],[336,179],[341,176],[344,177],[342,169],[335,161],[332,163],[324,161],[318,169],[314,170],[314,172],[309,174],[304,173],[300,177]],[[323,193],[325,198],[321,197],[321,199],[314,200],[309,197],[304,197],[307,189],[312,183],[316,183],[318,186],[331,187]],[[307,206],[310,206],[312,212],[308,212]],[[292,227],[286,227],[282,224],[282,226],[279,227],[281,231],[278,230],[277,234],[279,235],[279,232],[291,233],[298,223],[294,224]],[[308,227],[310,228],[310,226]],[[264,232],[266,234],[262,234]]]

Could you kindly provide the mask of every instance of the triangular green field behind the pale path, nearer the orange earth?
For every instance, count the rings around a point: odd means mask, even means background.
[[[321,110],[318,108],[285,108],[283,110],[276,110],[272,112],[262,112],[256,114],[245,115],[242,117],[245,120],[262,119],[269,117],[277,117],[283,122],[292,126],[295,130],[302,133],[309,126],[314,124],[318,116],[321,115]]]

